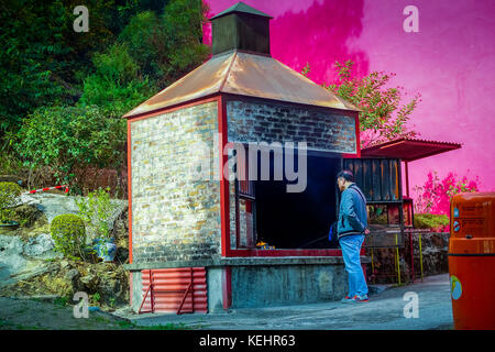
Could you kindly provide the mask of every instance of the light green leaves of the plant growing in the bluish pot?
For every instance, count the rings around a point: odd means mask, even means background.
[[[109,188],[99,188],[89,193],[86,198],[76,199],[79,213],[86,226],[99,239],[106,240],[111,237],[108,224],[112,211],[109,190]]]

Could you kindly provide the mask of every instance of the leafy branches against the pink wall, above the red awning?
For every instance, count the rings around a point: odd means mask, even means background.
[[[376,143],[398,138],[414,138],[416,132],[407,127],[410,114],[419,102],[416,95],[408,102],[403,103],[404,88],[388,87],[395,74],[372,72],[370,75],[353,77],[352,61],[336,63],[339,81],[333,85],[323,85],[324,88],[336,92],[350,101],[362,111],[360,112],[360,129],[362,133],[361,146],[366,147]],[[309,68],[307,68],[307,72]]]

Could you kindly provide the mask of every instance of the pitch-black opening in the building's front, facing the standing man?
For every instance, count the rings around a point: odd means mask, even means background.
[[[287,193],[287,184],[294,182],[288,182],[285,173],[282,180],[273,180],[273,155],[270,165],[271,180],[253,183],[256,242],[280,250],[337,248],[328,241],[328,232],[337,219],[336,176],[341,160],[308,154],[306,189],[301,193]]]

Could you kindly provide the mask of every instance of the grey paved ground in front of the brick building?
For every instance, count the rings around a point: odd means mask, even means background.
[[[406,293],[418,296],[418,318],[405,318]],[[300,306],[237,309],[229,314],[136,316],[129,310],[119,316],[136,326],[185,324],[193,329],[358,329],[358,330],[427,330],[453,329],[449,275],[436,275],[402,287],[393,287],[370,296],[366,304],[324,302]]]

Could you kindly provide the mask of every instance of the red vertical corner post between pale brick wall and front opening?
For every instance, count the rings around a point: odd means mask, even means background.
[[[228,156],[223,154],[227,145],[227,101],[221,96],[218,98],[218,132],[219,132],[219,157],[220,157],[220,226],[221,226],[221,252],[228,256],[230,250],[230,215],[229,215],[229,180],[223,177],[223,165]]]

